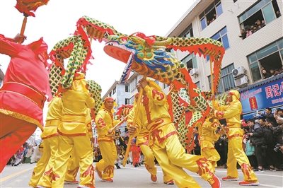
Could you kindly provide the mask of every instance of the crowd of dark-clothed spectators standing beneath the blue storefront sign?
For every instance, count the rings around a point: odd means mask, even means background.
[[[278,108],[272,113],[267,107],[265,113],[258,112],[258,116],[243,123],[243,143],[246,145],[243,149],[250,165],[259,172],[282,170],[283,110]]]

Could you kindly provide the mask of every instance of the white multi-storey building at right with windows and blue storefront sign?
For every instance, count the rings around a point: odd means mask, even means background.
[[[201,0],[196,1],[167,33],[167,37],[209,37],[223,43],[226,52],[222,60],[218,93],[231,89],[241,94],[243,114],[253,117],[255,110],[283,107],[283,74],[265,79],[266,71],[283,67],[282,1],[276,0]],[[257,20],[265,26],[245,39],[241,29],[248,30]],[[210,90],[209,59],[195,54],[171,52],[187,64],[201,90]]]

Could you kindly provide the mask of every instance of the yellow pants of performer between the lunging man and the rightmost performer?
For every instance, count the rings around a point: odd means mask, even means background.
[[[212,163],[212,172],[215,172],[215,167],[217,166],[217,161],[220,160],[220,155],[214,148],[214,144],[211,141],[203,140],[200,142],[200,148],[202,148],[201,155]]]

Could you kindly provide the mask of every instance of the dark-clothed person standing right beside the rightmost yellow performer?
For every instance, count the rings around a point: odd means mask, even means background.
[[[254,119],[248,119],[248,127],[250,127],[250,132],[247,133],[246,139],[251,139],[251,143],[255,146],[255,156],[258,159],[258,168],[254,171],[263,172],[262,165],[264,161],[262,158],[262,145],[265,144],[265,139],[263,137],[263,129],[260,124],[255,123]]]

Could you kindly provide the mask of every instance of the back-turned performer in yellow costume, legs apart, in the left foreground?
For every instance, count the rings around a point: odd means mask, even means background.
[[[79,187],[94,187],[94,168],[91,143],[86,128],[87,108],[93,108],[95,101],[86,89],[84,74],[76,73],[69,90],[62,93],[62,123],[58,127],[58,150],[54,167],[44,172],[38,183],[43,187],[64,187],[65,172],[71,151],[80,159]]]

